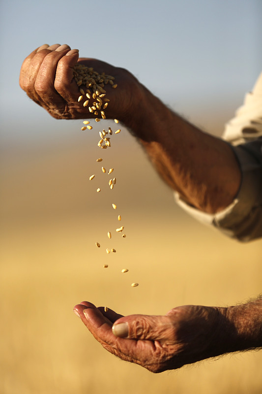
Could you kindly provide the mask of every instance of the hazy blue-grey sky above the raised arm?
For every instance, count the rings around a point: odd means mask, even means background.
[[[28,119],[50,122],[18,84],[24,58],[43,43],[128,68],[193,118],[218,103],[234,110],[262,68],[261,0],[5,0],[0,7],[2,135],[13,116],[23,126],[4,138],[30,134]]]

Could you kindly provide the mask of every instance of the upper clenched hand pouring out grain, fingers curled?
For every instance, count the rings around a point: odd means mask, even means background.
[[[110,99],[107,118],[124,121],[125,117],[132,116],[139,104],[142,86],[137,79],[123,68],[96,59],[79,59],[78,50],[71,50],[68,45],[44,44],[30,53],[21,67],[20,86],[30,99],[56,119],[94,118],[88,107],[83,107],[84,101],[78,102],[79,87],[73,79],[77,62],[115,77],[117,88],[105,87],[106,97]]]

